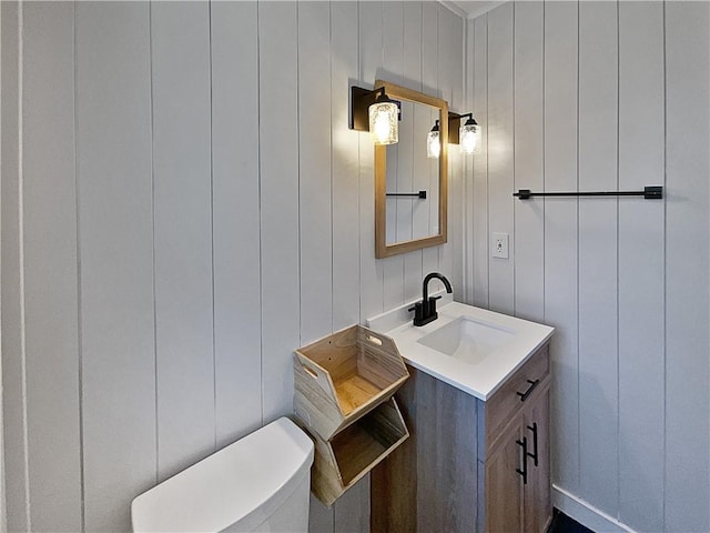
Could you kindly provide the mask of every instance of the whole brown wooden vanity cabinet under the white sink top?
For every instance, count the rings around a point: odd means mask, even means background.
[[[548,345],[487,402],[409,372],[396,398],[412,436],[372,473],[373,533],[544,533],[552,515]]]

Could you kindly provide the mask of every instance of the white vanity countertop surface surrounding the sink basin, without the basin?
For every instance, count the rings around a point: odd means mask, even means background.
[[[412,303],[374,316],[367,324],[372,330],[394,339],[407,364],[483,401],[489,399],[555,331],[548,325],[458,302],[447,303],[447,300],[450,301],[450,296],[439,301],[438,319],[424,326],[413,325],[412,313],[406,312]],[[408,320],[403,324],[405,318]],[[458,318],[469,318],[479,324],[511,332],[511,339],[477,363],[446,355],[418,342]]]

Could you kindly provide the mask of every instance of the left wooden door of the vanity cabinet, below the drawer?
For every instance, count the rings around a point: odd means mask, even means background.
[[[520,418],[500,435],[498,445],[486,457],[486,527],[487,533],[523,531],[524,467]]]

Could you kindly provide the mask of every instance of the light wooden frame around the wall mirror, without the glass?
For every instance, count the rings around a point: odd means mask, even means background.
[[[385,88],[385,92],[393,100],[407,100],[409,102],[424,103],[433,108],[438,108],[442,152],[439,153],[438,234],[387,244],[387,147],[375,144],[375,258],[377,259],[444,244],[446,242],[448,221],[448,103],[440,98],[423,94],[387,81],[376,80],[375,89],[379,89],[381,87]],[[422,139],[422,150],[425,150],[425,139]]]

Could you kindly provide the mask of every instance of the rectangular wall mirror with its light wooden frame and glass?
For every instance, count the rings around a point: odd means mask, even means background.
[[[375,257],[388,258],[446,242],[448,103],[375,81],[400,102],[399,142],[375,145]],[[427,157],[427,134],[438,120],[440,152]]]

